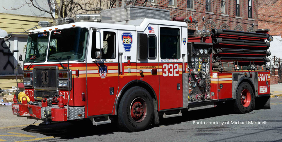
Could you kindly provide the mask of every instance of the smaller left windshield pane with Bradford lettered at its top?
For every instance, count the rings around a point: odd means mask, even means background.
[[[44,62],[49,32],[28,35],[25,62]]]

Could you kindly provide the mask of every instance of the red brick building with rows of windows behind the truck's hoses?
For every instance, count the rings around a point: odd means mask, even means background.
[[[117,3],[122,5],[121,0]],[[129,0],[126,1],[128,3]],[[171,17],[192,16],[198,23],[188,23],[188,35],[195,35],[195,30],[203,30],[204,27],[208,30],[222,28],[249,32],[258,29],[258,1],[255,0],[147,0],[145,3],[138,0],[136,5],[168,9]]]

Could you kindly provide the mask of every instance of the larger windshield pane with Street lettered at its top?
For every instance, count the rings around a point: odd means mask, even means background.
[[[52,31],[48,49],[48,61],[78,60],[85,58],[88,30],[86,28],[69,28]],[[56,59],[57,58],[57,59]]]

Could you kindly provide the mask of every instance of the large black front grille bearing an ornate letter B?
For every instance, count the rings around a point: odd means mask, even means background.
[[[58,73],[56,68],[36,68],[33,70],[36,88],[57,88]]]

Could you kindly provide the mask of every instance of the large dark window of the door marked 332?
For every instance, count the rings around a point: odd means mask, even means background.
[[[160,28],[160,58],[180,59],[179,28]]]

